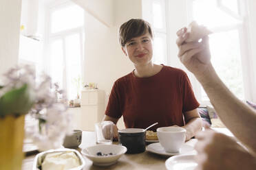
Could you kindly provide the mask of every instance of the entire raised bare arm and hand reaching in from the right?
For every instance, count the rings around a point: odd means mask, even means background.
[[[253,152],[256,153],[256,111],[237,99],[224,85],[211,64],[209,38],[202,42],[185,43],[189,33],[186,28],[177,32],[178,56],[184,66],[191,71],[202,84],[211,104],[222,122],[231,132]]]

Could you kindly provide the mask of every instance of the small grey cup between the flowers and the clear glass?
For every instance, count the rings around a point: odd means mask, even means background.
[[[65,136],[63,146],[76,148],[82,142],[82,130],[73,130],[72,134]]]

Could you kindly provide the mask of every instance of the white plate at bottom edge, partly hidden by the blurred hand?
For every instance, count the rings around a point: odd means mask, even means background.
[[[194,160],[195,155],[177,155],[165,161],[168,170],[193,170],[198,165]]]

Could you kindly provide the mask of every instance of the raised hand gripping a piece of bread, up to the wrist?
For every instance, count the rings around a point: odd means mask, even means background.
[[[178,39],[178,57],[186,68],[195,75],[202,75],[211,65],[211,53],[209,50],[209,37],[204,36],[201,42],[185,42],[189,38],[186,27],[176,33]]]

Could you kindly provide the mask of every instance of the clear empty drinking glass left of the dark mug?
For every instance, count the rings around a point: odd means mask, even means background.
[[[113,122],[102,121],[95,124],[96,143],[111,144],[113,141]]]

